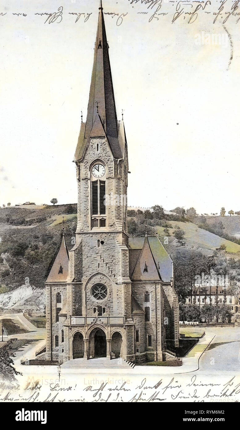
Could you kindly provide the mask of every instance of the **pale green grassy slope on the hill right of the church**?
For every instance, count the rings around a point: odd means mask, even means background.
[[[223,239],[207,230],[203,230],[202,228],[199,228],[197,224],[191,222],[172,221],[171,225],[173,228],[169,228],[170,235],[173,236],[173,231],[176,230],[177,227],[180,227],[181,230],[185,231],[184,240],[186,240],[186,243],[189,246],[214,250],[215,248],[219,248],[220,245],[225,244],[227,252],[240,252],[240,245],[237,243]],[[164,227],[158,226],[157,229],[160,235],[164,235]]]

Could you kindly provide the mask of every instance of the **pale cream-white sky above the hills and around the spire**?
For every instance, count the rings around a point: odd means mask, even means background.
[[[158,13],[167,15],[149,22],[160,3],[147,9],[131,2],[103,0],[103,12],[112,13],[104,18],[128,141],[128,206],[239,211],[240,23],[230,17],[223,25],[221,17],[213,24],[204,11],[190,24],[189,14],[172,23],[174,1],[162,1]],[[59,23],[35,15],[60,6]],[[72,161],[81,111],[83,120],[87,113],[98,6],[98,0],[1,2],[0,206],[77,200]],[[69,12],[85,17],[75,22],[78,15]],[[220,42],[208,44],[205,35],[216,34]]]

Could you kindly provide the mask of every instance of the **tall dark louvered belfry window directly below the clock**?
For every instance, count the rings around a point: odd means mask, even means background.
[[[92,178],[91,228],[101,227],[106,227],[106,181]]]

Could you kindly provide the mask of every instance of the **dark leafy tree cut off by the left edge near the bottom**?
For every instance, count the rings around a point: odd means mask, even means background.
[[[15,357],[12,353],[12,343],[17,341],[13,338],[7,341],[2,348],[0,348],[0,375],[6,381],[16,381],[16,375],[21,375],[13,366],[14,362],[11,357]]]

